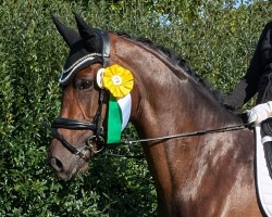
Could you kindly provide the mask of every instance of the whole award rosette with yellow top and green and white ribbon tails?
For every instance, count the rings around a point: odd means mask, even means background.
[[[97,84],[100,88],[110,91],[107,143],[118,143],[131,116],[132,97],[129,92],[134,85],[133,75],[128,69],[115,64],[98,71]]]

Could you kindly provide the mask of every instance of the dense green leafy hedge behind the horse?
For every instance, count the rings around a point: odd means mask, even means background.
[[[202,5],[205,13],[199,16],[188,18],[178,11],[169,17],[171,23],[162,24],[159,3],[124,0],[1,3],[0,216],[156,214],[156,192],[145,159],[102,154],[89,164],[87,174],[69,182],[59,181],[47,164],[50,135],[41,125],[59,114],[58,78],[67,54],[50,18],[52,13],[75,27],[73,12],[78,12],[96,27],[123,30],[173,48],[223,93],[246,72],[259,34],[272,17],[269,2],[237,10],[211,3]],[[189,9],[184,14],[190,14]],[[126,133],[135,131],[129,127]],[[118,146],[109,152],[143,154],[139,146],[134,150]]]

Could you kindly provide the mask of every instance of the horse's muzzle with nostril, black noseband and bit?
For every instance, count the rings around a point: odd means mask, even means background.
[[[52,126],[46,126],[52,133],[51,151],[48,156],[50,166],[57,173],[57,176],[62,180],[69,180],[79,170],[85,170],[87,163],[95,154],[100,153],[104,148],[103,128],[97,129],[97,125],[69,118],[58,117],[53,120]],[[81,143],[71,143],[66,140],[67,135],[61,135],[59,128],[70,130],[84,130],[89,136],[84,136],[85,139]],[[66,137],[64,139],[64,137]],[[79,137],[81,138],[81,137]],[[64,148],[64,149],[63,149]]]

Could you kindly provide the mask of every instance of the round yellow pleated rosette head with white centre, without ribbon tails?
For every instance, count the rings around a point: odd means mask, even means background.
[[[134,85],[131,71],[118,64],[104,68],[102,82],[103,87],[115,98],[123,98],[128,94]]]

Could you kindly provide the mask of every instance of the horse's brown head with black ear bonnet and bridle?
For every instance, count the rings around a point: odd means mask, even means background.
[[[90,157],[103,150],[107,92],[98,87],[97,72],[108,65],[109,37],[75,15],[78,33],[52,16],[70,47],[60,77],[62,104],[52,123],[49,162],[59,178],[69,180],[87,168]],[[91,68],[89,67],[91,65]]]

